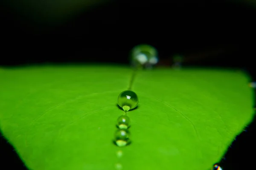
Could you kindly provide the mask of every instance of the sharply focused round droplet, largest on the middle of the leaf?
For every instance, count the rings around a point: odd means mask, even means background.
[[[127,90],[119,94],[117,103],[124,111],[129,111],[138,105],[139,100],[136,93]]]

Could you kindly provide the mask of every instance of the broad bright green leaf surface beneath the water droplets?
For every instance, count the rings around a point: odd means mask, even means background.
[[[0,128],[31,170],[209,170],[253,117],[249,77],[233,70],[138,72],[131,144],[113,144],[131,69],[0,71]]]

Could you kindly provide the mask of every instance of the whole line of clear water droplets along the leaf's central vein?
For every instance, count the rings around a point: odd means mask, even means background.
[[[137,45],[131,50],[131,65],[134,70],[131,75],[128,90],[119,94],[117,99],[119,107],[124,111],[123,114],[118,117],[116,122],[117,130],[113,142],[118,147],[125,147],[131,144],[129,132],[131,125],[127,112],[136,108],[139,102],[137,94],[135,94],[134,91],[131,91],[137,71],[142,68],[143,65],[145,68],[151,68],[151,65],[156,64],[157,61],[157,51],[150,45]],[[122,155],[122,150],[116,152],[118,158],[121,158]],[[116,163],[115,168],[116,170],[122,170],[122,164],[120,162]]]

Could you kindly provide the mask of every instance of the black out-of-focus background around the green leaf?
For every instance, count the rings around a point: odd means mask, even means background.
[[[62,4],[26,1],[0,3],[0,66],[128,65],[131,48],[147,43],[157,48],[158,65],[171,67],[180,54],[184,66],[241,68],[256,79],[256,1],[95,1],[67,13]],[[223,170],[254,169],[254,122],[220,160]],[[25,169],[3,138],[0,155],[0,169]]]

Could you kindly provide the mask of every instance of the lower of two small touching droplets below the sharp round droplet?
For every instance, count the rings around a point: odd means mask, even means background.
[[[128,144],[130,144],[130,139],[129,139],[130,133],[128,130],[125,129],[119,129],[116,131],[115,134],[115,144],[119,147],[124,147]]]

